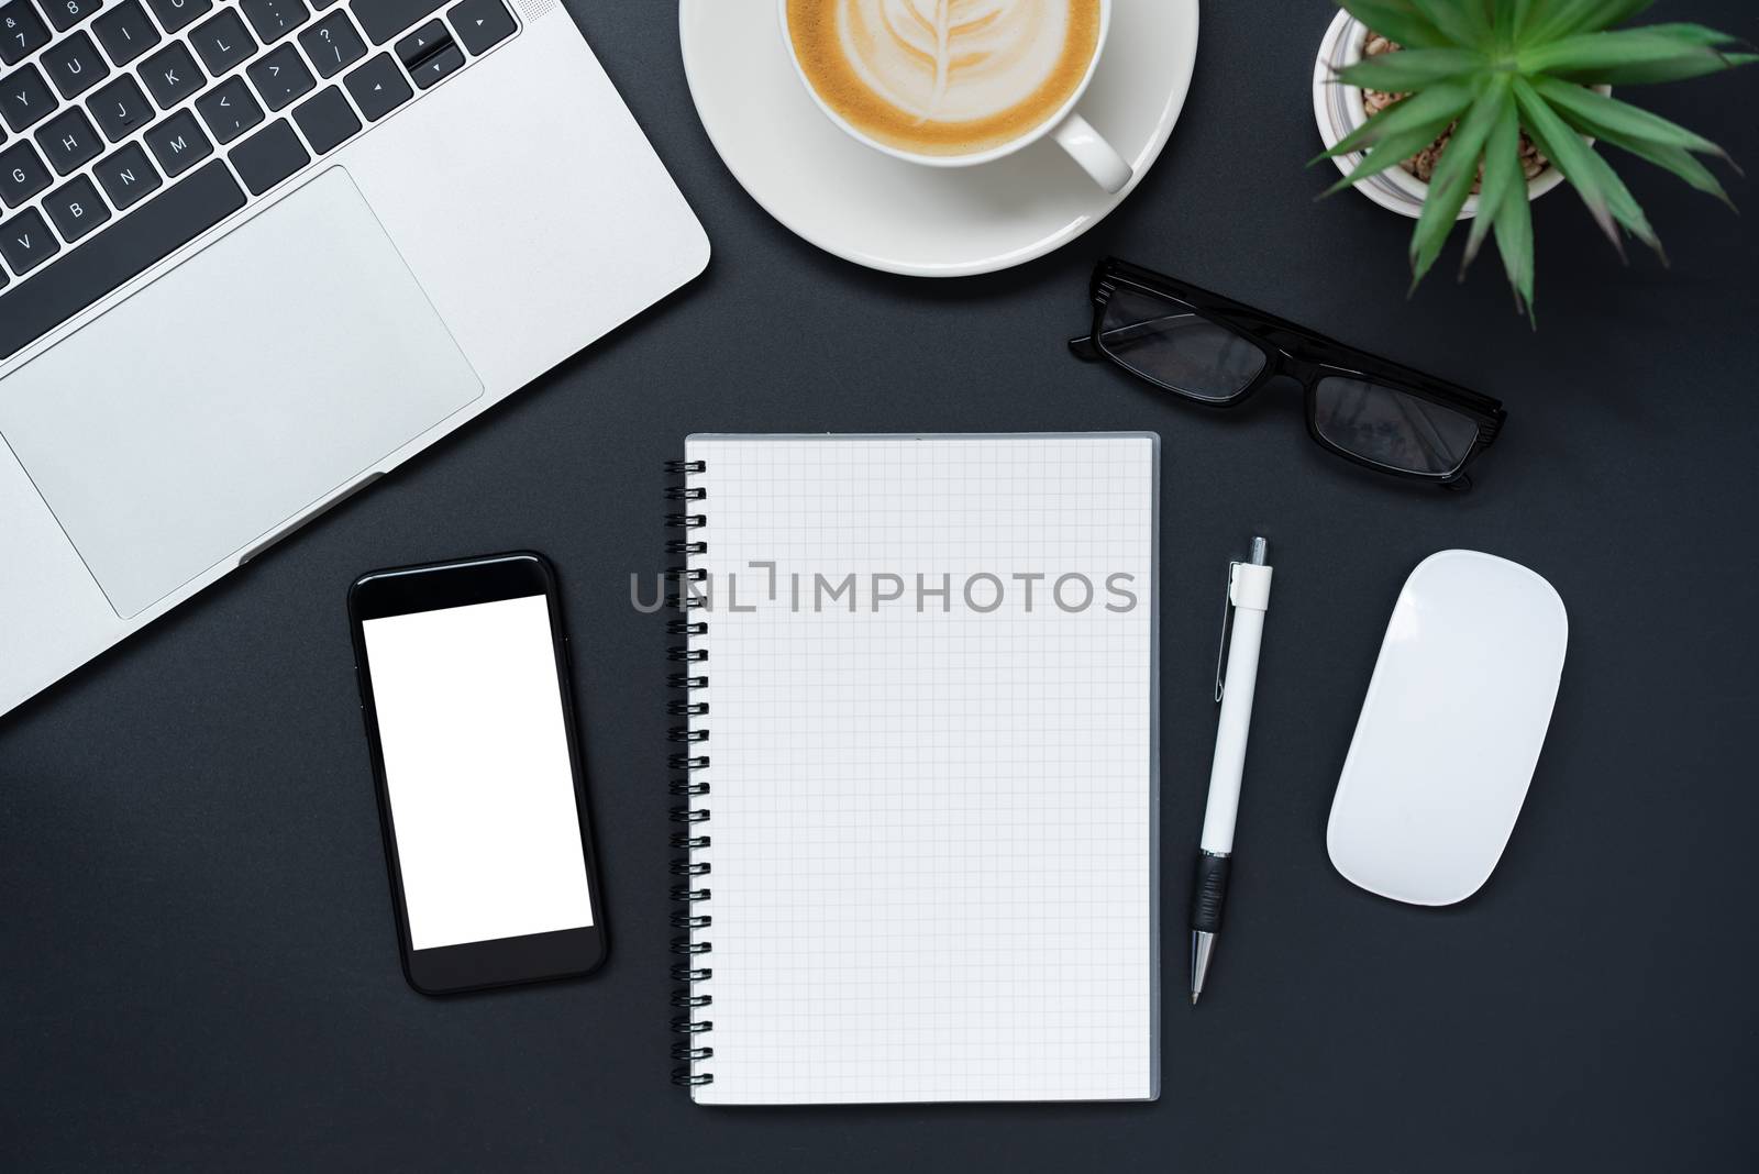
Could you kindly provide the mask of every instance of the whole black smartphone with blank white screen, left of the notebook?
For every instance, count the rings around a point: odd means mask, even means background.
[[[605,923],[556,571],[528,550],[348,589],[403,975],[424,995],[580,975]]]

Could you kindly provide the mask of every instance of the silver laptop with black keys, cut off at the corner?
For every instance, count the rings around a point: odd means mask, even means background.
[[[0,714],[698,274],[556,0],[0,0]]]

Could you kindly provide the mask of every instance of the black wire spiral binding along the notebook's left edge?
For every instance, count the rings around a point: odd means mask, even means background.
[[[704,473],[705,462],[667,460],[665,471],[667,476],[690,478]],[[690,485],[686,482],[682,485],[668,485],[665,496],[667,501],[697,503],[705,499],[709,492],[702,485]],[[679,511],[665,515],[667,529],[672,531],[700,529],[707,520],[702,513]],[[672,902],[675,905],[672,928],[681,931],[672,938],[672,954],[675,958],[672,963],[672,982],[675,982],[672,1007],[681,1012],[672,1018],[672,1032],[681,1037],[672,1044],[672,1060],[681,1065],[672,1069],[672,1083],[686,1088],[714,1083],[712,1072],[700,1070],[702,1062],[714,1056],[714,1047],[709,1047],[702,1040],[705,1033],[714,1030],[714,1021],[702,1019],[697,1014],[700,1009],[714,1005],[714,995],[697,993],[697,982],[714,975],[714,970],[702,965],[700,958],[714,949],[711,942],[702,938],[702,931],[714,924],[714,917],[698,914],[693,909],[698,902],[709,900],[709,888],[704,877],[709,875],[712,866],[707,861],[691,859],[691,852],[711,844],[707,835],[709,808],[693,803],[693,800],[709,794],[709,784],[693,777],[695,772],[709,766],[709,756],[702,745],[709,740],[709,731],[702,728],[693,729],[690,724],[690,719],[704,717],[709,712],[707,701],[695,701],[690,696],[691,691],[704,689],[709,684],[707,675],[695,668],[709,659],[709,652],[702,647],[691,649],[688,643],[691,636],[705,636],[709,624],[690,615],[704,606],[705,601],[686,589],[688,583],[702,582],[707,576],[705,569],[693,569],[688,559],[707,550],[709,543],[695,538],[670,538],[665,543],[667,555],[679,559],[675,566],[665,569],[667,582],[675,585],[675,591],[667,594],[665,605],[679,617],[668,619],[665,631],[667,636],[684,640],[667,649],[667,661],[682,670],[667,675],[667,687],[679,691],[682,696],[668,699],[665,712],[668,717],[684,719],[682,724],[667,729],[667,742],[672,745],[672,752],[667,756],[667,768],[672,772],[667,791],[679,800],[670,814],[674,824],[672,849],[682,852],[670,865]]]

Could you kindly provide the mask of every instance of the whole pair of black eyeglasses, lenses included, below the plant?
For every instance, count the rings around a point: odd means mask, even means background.
[[[1208,408],[1289,376],[1307,388],[1307,432],[1379,473],[1469,489],[1465,467],[1507,420],[1488,395],[1113,257],[1094,269],[1092,301],[1092,332],[1069,339],[1080,359]]]

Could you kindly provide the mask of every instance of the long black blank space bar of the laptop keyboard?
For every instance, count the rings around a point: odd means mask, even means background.
[[[42,337],[243,206],[245,193],[225,163],[215,160],[192,170],[90,244],[0,295],[0,359]],[[0,223],[0,251],[9,250],[11,236]]]

